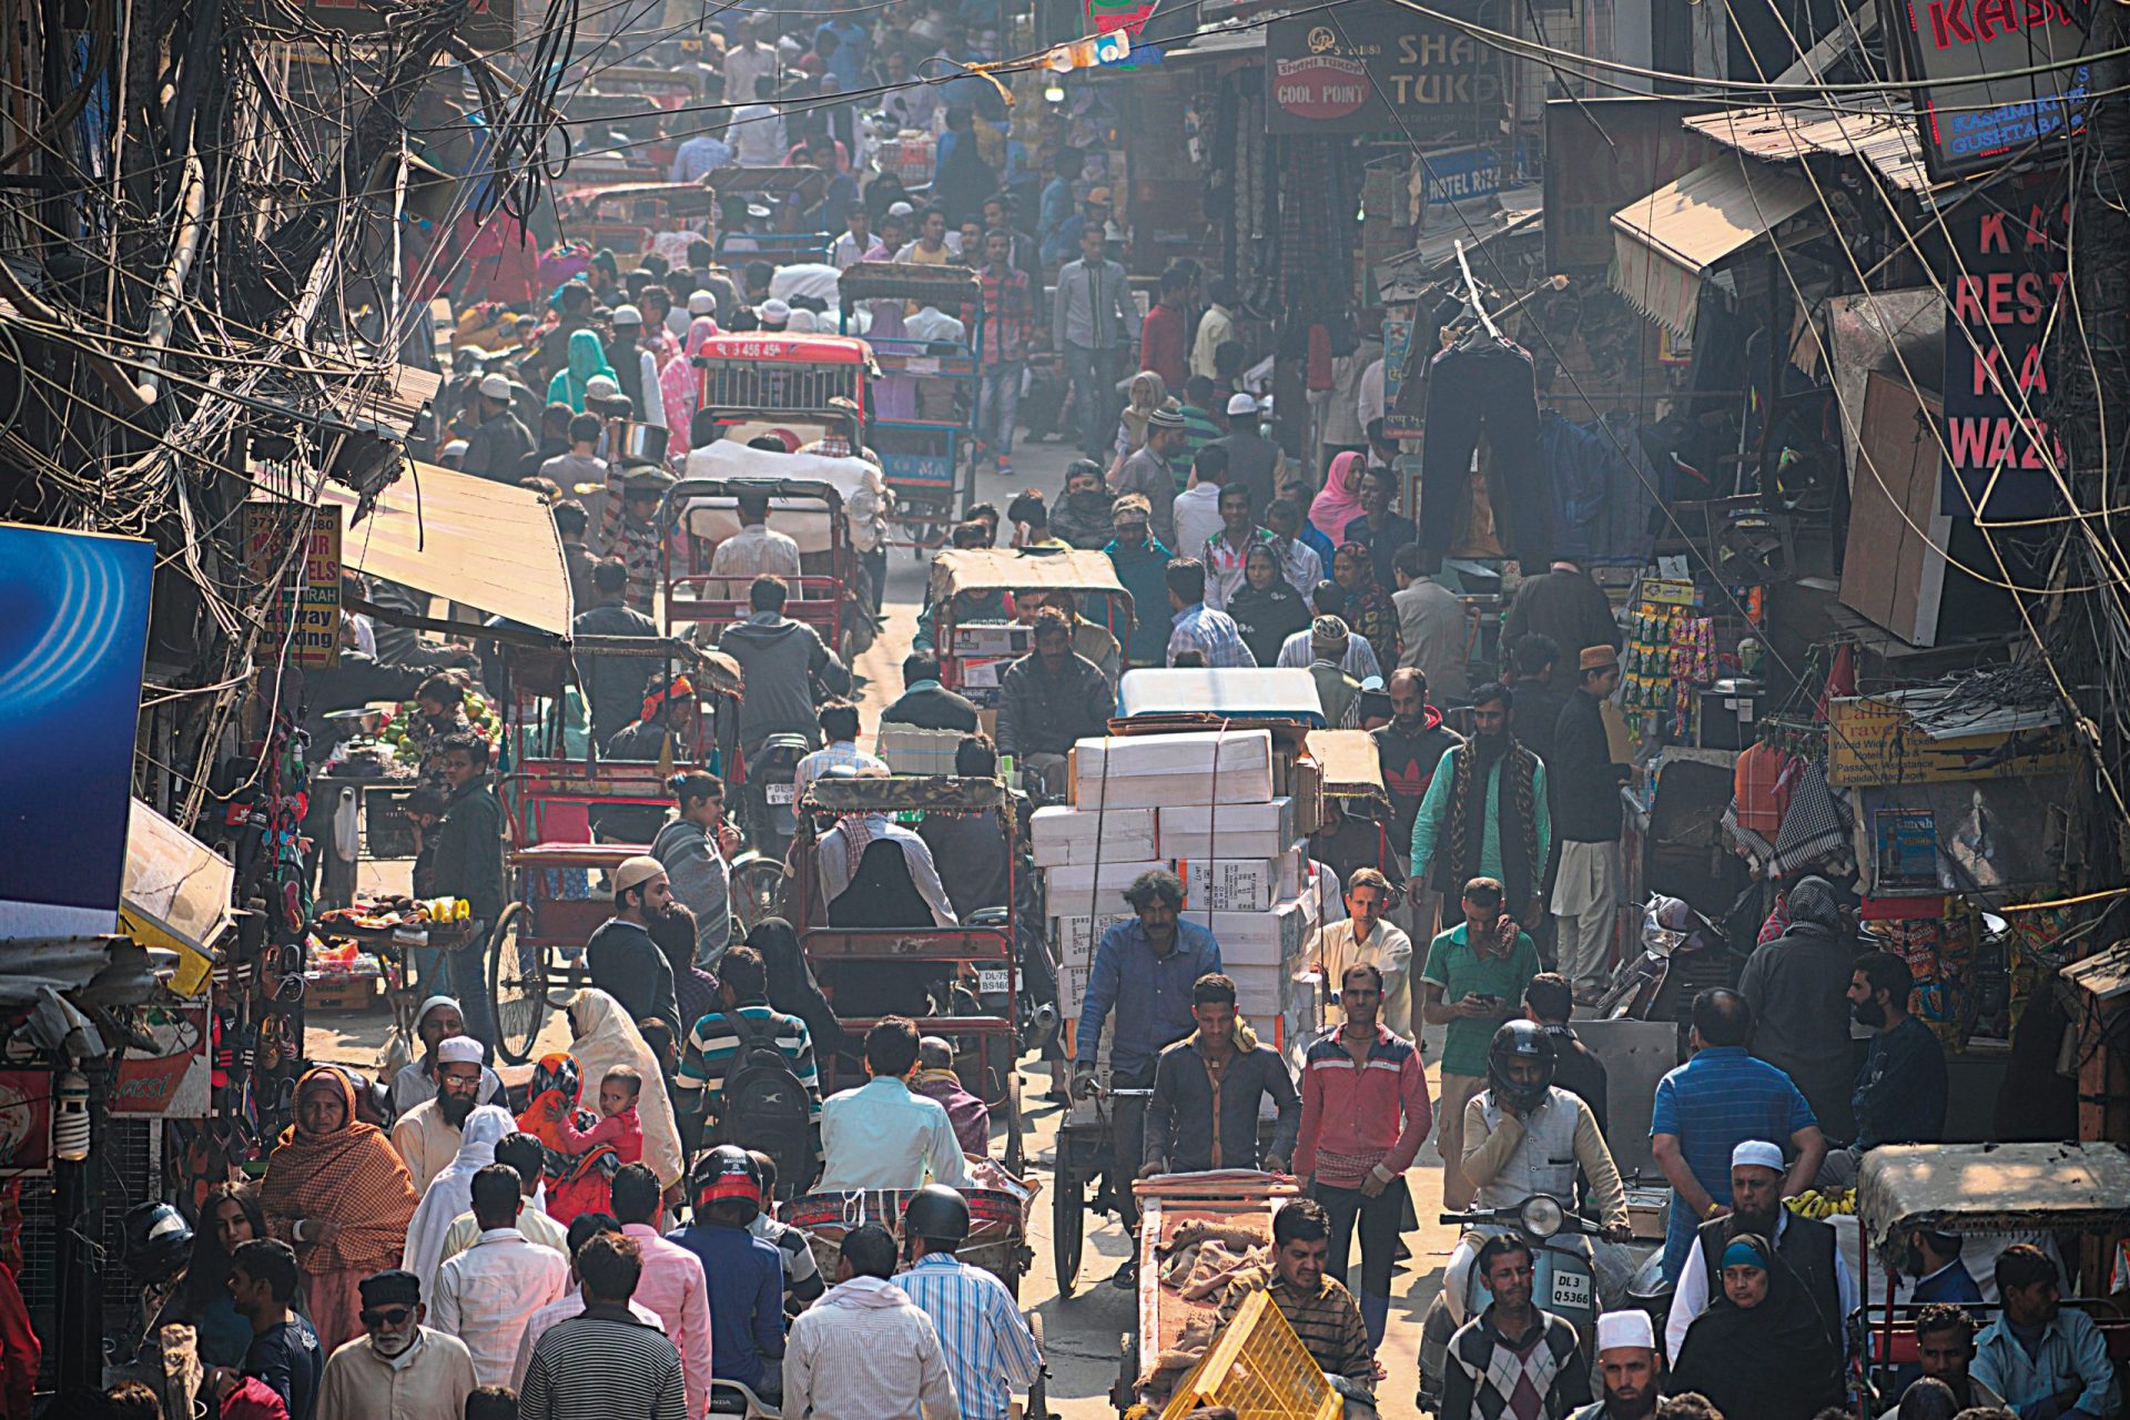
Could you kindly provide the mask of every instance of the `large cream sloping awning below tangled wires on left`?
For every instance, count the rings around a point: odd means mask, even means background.
[[[328,485],[326,502],[356,494]],[[413,464],[368,517],[341,530],[341,562],[552,637],[569,637],[569,566],[541,496],[437,464]]]

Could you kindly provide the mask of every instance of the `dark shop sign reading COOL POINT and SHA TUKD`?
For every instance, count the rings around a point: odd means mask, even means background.
[[[1382,0],[1306,11],[1265,28],[1265,130],[1495,132],[1504,60],[1455,26]]]

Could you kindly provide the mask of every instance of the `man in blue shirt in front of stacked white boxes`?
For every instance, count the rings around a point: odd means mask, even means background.
[[[1080,1099],[1097,1092],[1095,1062],[1101,1056],[1101,1026],[1116,1007],[1110,1039],[1110,1088],[1152,1090],[1161,1052],[1199,1028],[1193,990],[1199,977],[1220,971],[1220,943],[1197,922],[1182,920],[1184,884],[1167,869],[1140,873],[1125,888],[1135,922],[1118,922],[1101,935],[1086,990],[1080,996],[1080,1030],[1074,1035],[1071,1088]],[[1116,1135],[1116,1177],[1140,1177],[1146,1156],[1146,1096],[1118,1096],[1112,1111]],[[1129,1184],[1118,1188],[1125,1226],[1137,1235],[1140,1205]],[[1112,1279],[1131,1288],[1140,1277],[1137,1248]]]

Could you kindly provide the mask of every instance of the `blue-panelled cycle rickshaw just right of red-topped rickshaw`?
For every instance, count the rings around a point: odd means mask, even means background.
[[[946,543],[973,498],[973,479],[963,485],[961,468],[982,398],[984,285],[958,264],[858,262],[837,281],[837,298],[841,330],[863,332],[880,364],[871,447],[895,490],[892,522],[924,556]],[[927,309],[954,324],[924,317]],[[905,332],[903,317],[922,321]]]

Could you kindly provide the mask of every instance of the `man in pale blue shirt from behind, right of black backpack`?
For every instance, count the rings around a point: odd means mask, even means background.
[[[927,1182],[963,1188],[969,1182],[946,1107],[910,1088],[916,1069],[914,1024],[888,1016],[865,1033],[871,1079],[820,1105],[822,1177],[816,1192],[922,1188]],[[786,1399],[788,1377],[786,1367]]]

